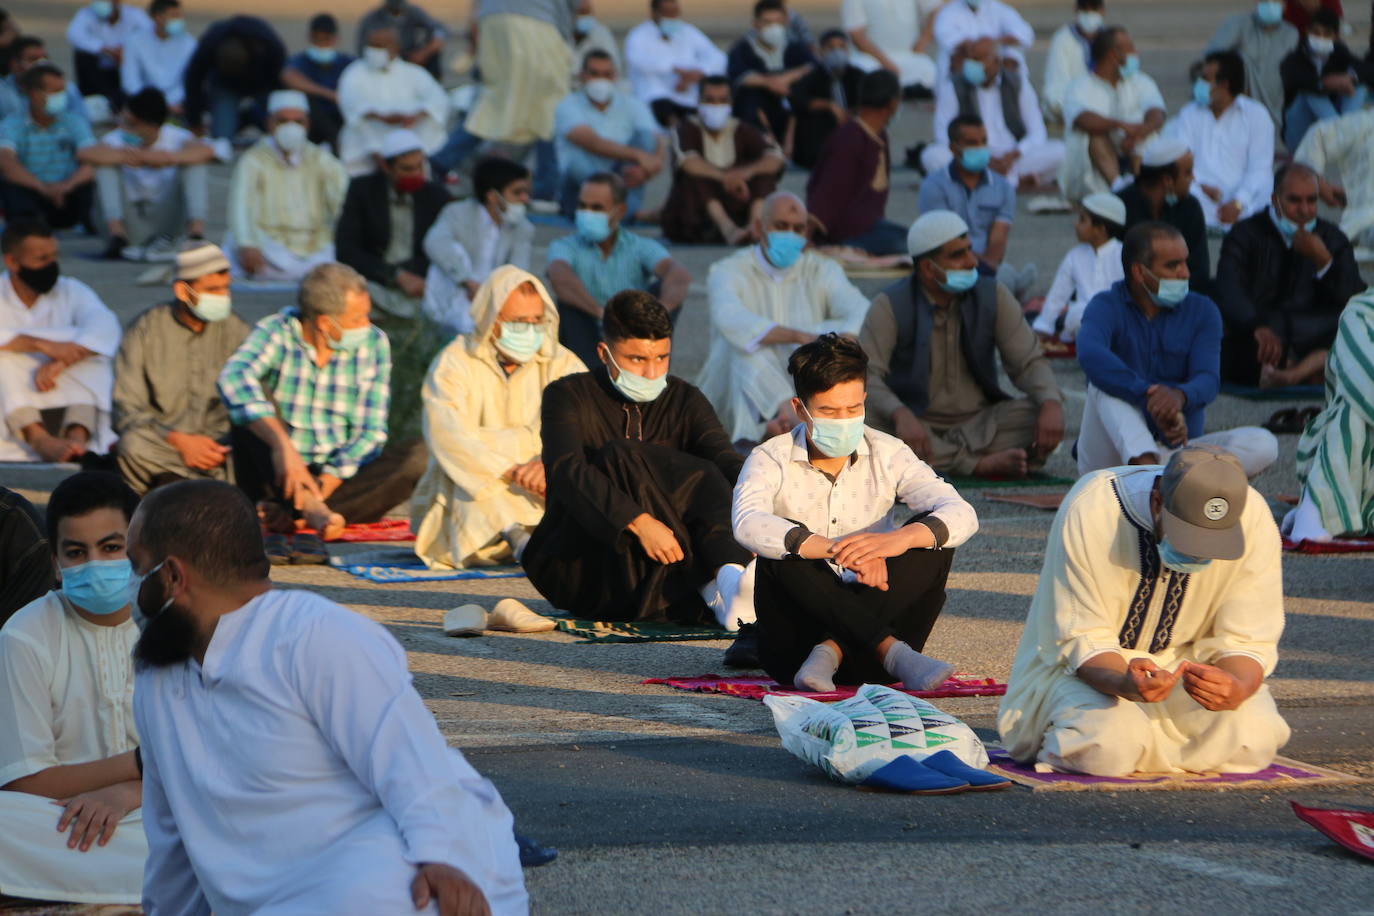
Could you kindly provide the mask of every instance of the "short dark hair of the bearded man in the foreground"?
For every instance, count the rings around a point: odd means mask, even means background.
[[[143,499],[139,541],[150,564],[176,555],[216,585],[267,578],[253,503],[221,481],[179,481]]]

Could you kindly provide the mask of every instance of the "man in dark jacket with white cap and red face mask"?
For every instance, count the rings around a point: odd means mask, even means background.
[[[364,277],[372,305],[398,317],[425,298],[425,233],[452,198],[425,177],[425,150],[412,130],[382,140],[382,169],[349,184],[334,231],[334,253]]]

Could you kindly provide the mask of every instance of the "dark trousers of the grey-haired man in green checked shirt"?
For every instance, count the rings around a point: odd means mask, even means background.
[[[272,467],[272,449],[268,444],[247,427],[235,426],[229,431],[229,446],[234,449],[234,474],[239,489],[247,493],[254,504],[279,503],[294,512],[276,485],[276,470]],[[427,463],[429,450],[422,438],[387,444],[381,455],[360,467],[357,474],[334,490],[328,500],[330,508],[350,523],[379,522],[389,511],[411,497]],[[320,468],[311,466],[311,474],[319,477]]]

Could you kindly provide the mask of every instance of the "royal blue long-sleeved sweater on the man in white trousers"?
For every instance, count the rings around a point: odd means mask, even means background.
[[[1145,317],[1124,282],[1098,293],[1083,312],[1079,364],[1098,390],[1145,411],[1151,385],[1183,391],[1189,438],[1202,435],[1202,411],[1221,383],[1221,313],[1197,293]],[[1160,435],[1146,413],[1150,431]]]

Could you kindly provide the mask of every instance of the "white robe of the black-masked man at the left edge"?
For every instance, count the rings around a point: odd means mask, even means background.
[[[0,346],[15,336],[80,343],[96,356],[67,367],[56,387],[40,391],[33,374],[48,357],[38,353],[0,353],[0,461],[36,461],[37,453],[16,438],[5,419],[16,409],[87,405],[95,407],[98,423],[91,430],[92,448],[104,452],[114,442],[110,427],[110,398],[114,391],[113,357],[120,349],[120,320],[104,306],[95,290],[69,276],[26,308],[14,291],[8,273],[0,275]]]

